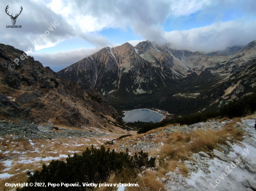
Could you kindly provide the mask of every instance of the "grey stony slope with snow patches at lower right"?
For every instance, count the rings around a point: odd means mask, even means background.
[[[130,153],[143,150],[152,152],[155,150],[154,157],[161,160],[165,149],[168,147],[178,147],[181,141],[181,134],[177,134],[177,142],[169,145],[166,139],[175,139],[171,136],[174,132],[180,131],[182,134],[192,134],[194,131],[202,130],[207,134],[208,130],[219,131],[225,128],[232,120],[219,122],[218,120],[209,120],[193,124],[191,126],[173,125],[160,128],[155,133],[146,133],[137,138],[116,141],[117,151],[125,151],[126,148]],[[255,118],[242,119],[241,122],[234,122],[238,130],[245,132],[242,141],[235,140],[231,134],[225,137],[222,144],[217,144],[211,152],[189,153],[191,157],[187,160],[178,159],[174,170],[160,175],[159,171],[163,168],[163,163],[156,161],[154,168],[141,167],[139,177],[146,177],[147,173],[155,173],[156,179],[164,184],[166,191],[252,191],[256,190],[256,131],[254,129]],[[200,138],[198,138],[200,139]],[[224,139],[224,138],[222,138]],[[182,147],[187,147],[197,141],[196,139],[188,141]],[[164,147],[165,145],[168,145]],[[168,148],[170,149],[170,148]],[[203,149],[203,148],[201,148]],[[184,150],[185,151],[185,150]],[[247,152],[246,152],[247,151]],[[185,152],[184,152],[185,153]],[[160,156],[159,156],[160,155]],[[182,157],[180,157],[182,158]],[[164,159],[164,163],[169,160],[175,160],[173,153],[169,153]],[[167,165],[168,166],[168,165]],[[186,166],[188,176],[183,176],[182,171]],[[168,167],[167,167],[168,168]],[[166,171],[167,169],[165,169]]]

